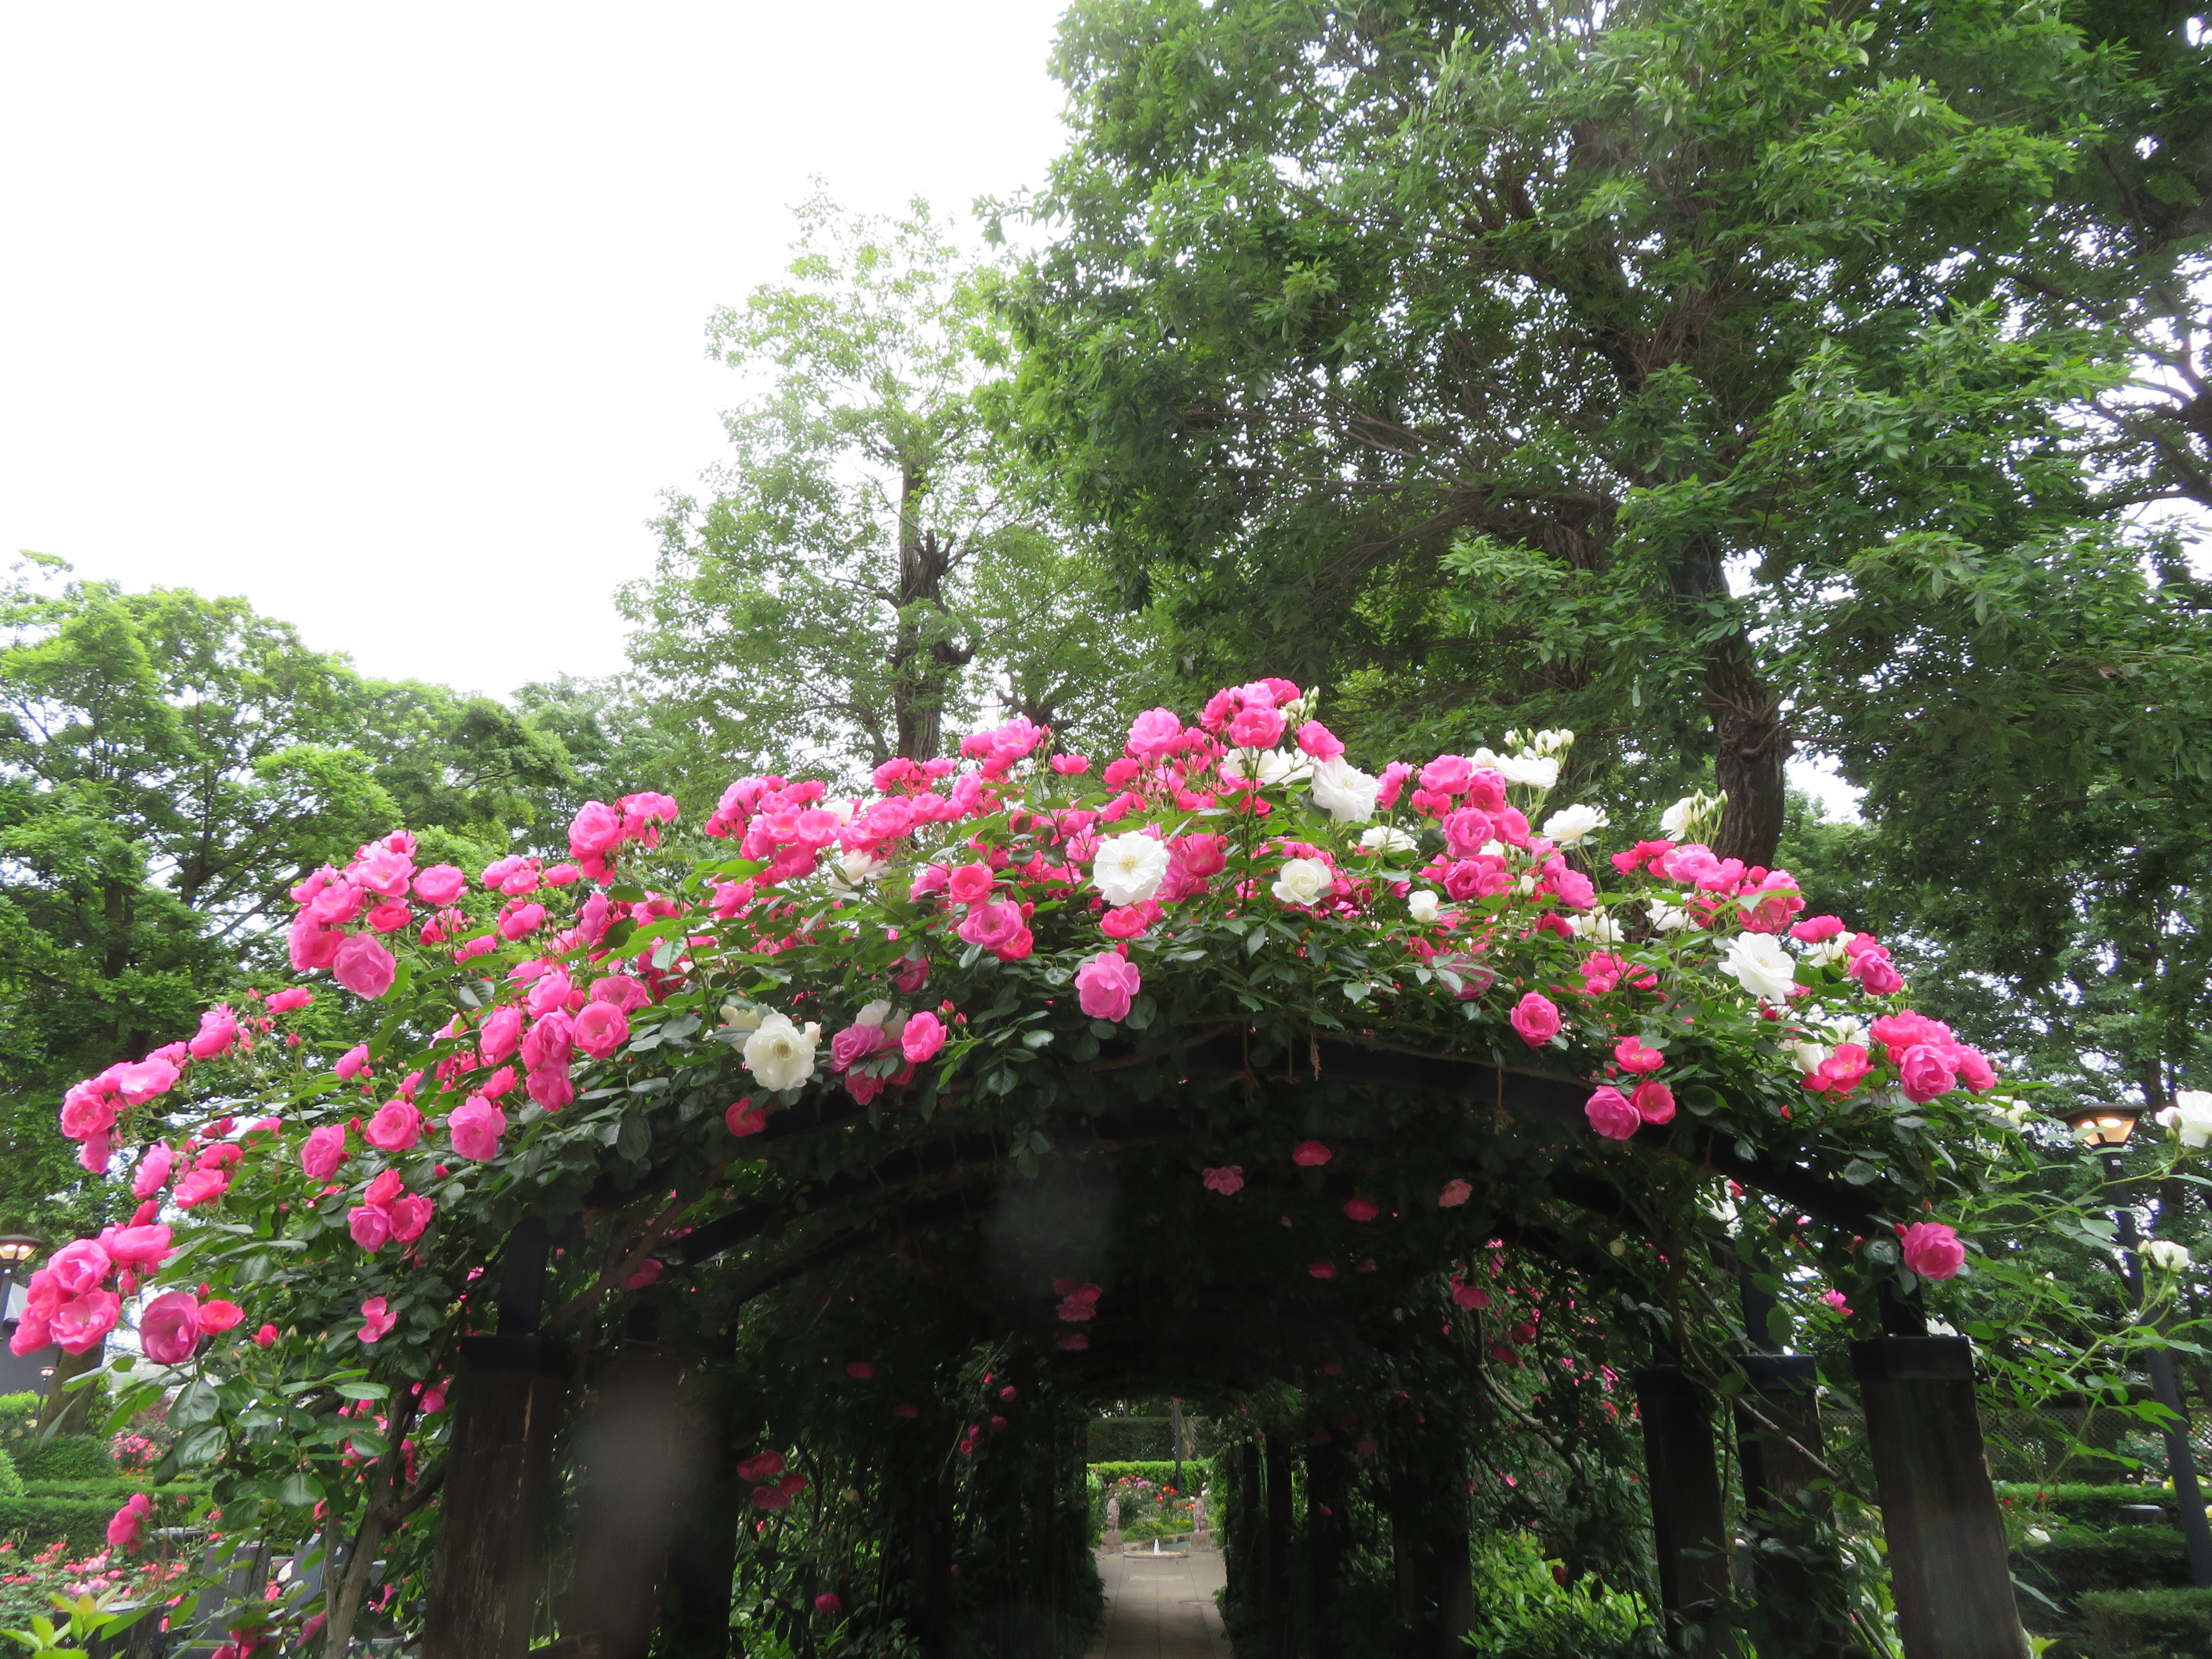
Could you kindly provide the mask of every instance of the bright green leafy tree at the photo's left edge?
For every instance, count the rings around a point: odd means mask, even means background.
[[[0,1212],[82,1221],[62,1091],[281,960],[285,889],[400,821],[489,863],[571,776],[524,717],[361,679],[243,599],[0,591]]]

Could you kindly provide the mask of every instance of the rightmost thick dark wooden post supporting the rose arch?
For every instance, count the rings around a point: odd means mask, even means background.
[[[1964,1336],[1851,1345],[1907,1659],[2024,1659]]]

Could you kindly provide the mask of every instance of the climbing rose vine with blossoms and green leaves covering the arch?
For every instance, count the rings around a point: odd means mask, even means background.
[[[1192,723],[1141,714],[1104,763],[1013,719],[858,792],[739,779],[690,856],[664,847],[664,794],[593,801],[568,860],[473,878],[394,832],[292,889],[314,989],[210,1009],[69,1091],[64,1133],[137,1208],[33,1274],[15,1352],[131,1323],[122,1409],[181,1383],[173,1462],[215,1464],[232,1524],[296,1515],[436,1447],[453,1340],[489,1329],[484,1270],[522,1214],[608,1217],[553,1314],[591,1318],[732,1199],[938,1115],[1033,1166],[1048,1113],[1157,1097],[1223,1033],[1274,1033],[1292,1064],[1336,1037],[1577,1079],[1599,1150],[1697,1121],[1849,1157],[1900,1234],[1865,1241],[1867,1270],[1960,1272],[1927,1210],[1971,1190],[1944,1146],[2011,1133],[1982,1104],[1993,1066],[1905,1006],[1876,938],[1697,841],[1714,803],[1655,836],[1551,805],[1568,745],[1365,772],[1263,679]],[[341,1053],[288,1031],[319,975],[363,1018]],[[801,1108],[860,1139],[772,1157]],[[1190,1179],[1234,1201],[1254,1168],[1334,1150],[1261,1119],[1206,1157]],[[1436,1168],[1431,1201],[1473,1175]],[[1051,1294],[1062,1323],[1102,1296]]]

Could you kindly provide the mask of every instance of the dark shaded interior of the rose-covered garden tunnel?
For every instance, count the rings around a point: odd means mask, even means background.
[[[1816,1500],[1759,1511],[1754,1455],[1818,1455],[1807,1378],[1770,1365],[1781,1385],[1739,1396],[1745,1513],[1723,1520],[1730,1420],[1674,1347],[1666,1301],[1683,1274],[1646,1237],[1639,1183],[1732,1172],[1803,1212],[1812,1228],[1785,1228],[1805,1243],[1836,1234],[1827,1250],[1847,1248],[1843,1228],[1874,1230],[1867,1197],[1692,1126],[1597,1144],[1562,1110],[1577,1091],[1528,1073],[1383,1055],[1374,1077],[1356,1051],[1312,1060],[1321,1079],[1192,1064],[1177,1097],[1051,1121],[1053,1148],[1029,1159],[911,1121],[891,1155],[872,1139],[867,1164],[841,1168],[823,1148],[856,1133],[854,1115],[787,1113],[761,1150],[805,1157],[814,1177],[659,1241],[668,1272],[588,1340],[562,1340],[544,1274],[591,1210],[524,1221],[502,1334],[471,1338],[456,1389],[456,1467],[498,1473],[476,1498],[456,1482],[442,1537],[469,1502],[562,1520],[507,1526],[495,1548],[440,1542],[427,1652],[520,1652],[500,1628],[526,1628],[588,1637],[577,1652],[719,1657],[732,1582],[750,1606],[781,1597],[799,1650],[825,1637],[810,1608],[834,1595],[841,1619],[898,1621],[920,1655],[1082,1652],[1097,1613],[1084,1422],[1133,1396],[1183,1396],[1228,1422],[1214,1526],[1241,1659],[1460,1650],[1482,1595],[1469,1493],[1531,1447],[1555,1475],[1650,1471],[1646,1489],[1588,1495],[1544,1548],[1577,1575],[1641,1579],[1677,1646],[1708,1641],[1699,1621],[1734,1586],[1767,1613],[1761,1655],[1845,1652],[1836,1584],[1796,1564],[1747,1584],[1723,1544],[1761,1524],[1783,1555],[1818,1544]],[[1327,1124],[1325,1166],[1274,1144],[1301,1121]],[[1243,1190],[1208,1190],[1217,1164],[1241,1164]],[[1438,1203],[1447,1164],[1471,1186],[1455,1208]],[[1347,1217],[1354,1197],[1378,1214]],[[1493,1243],[1509,1276],[1542,1287],[1544,1316],[1573,1325],[1584,1363],[1588,1398],[1542,1422],[1498,1387],[1515,1358],[1444,1279],[1458,1265],[1489,1283]],[[1732,1294],[1739,1267],[1723,1254],[1697,1279]],[[1102,1287],[1088,1316],[1064,1316],[1066,1281]],[[1747,1307],[1756,1325],[1756,1296]],[[1887,1312],[1913,1332],[1911,1307]],[[1739,1343],[1759,1347],[1756,1332]],[[737,1473],[768,1449],[812,1471],[794,1506],[805,1542]]]

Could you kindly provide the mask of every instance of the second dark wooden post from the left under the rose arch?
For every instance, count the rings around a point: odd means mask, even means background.
[[[650,1312],[635,1307],[580,1436],[575,1575],[562,1624],[595,1637],[597,1659],[646,1659],[675,1526],[677,1367],[650,1343]]]

